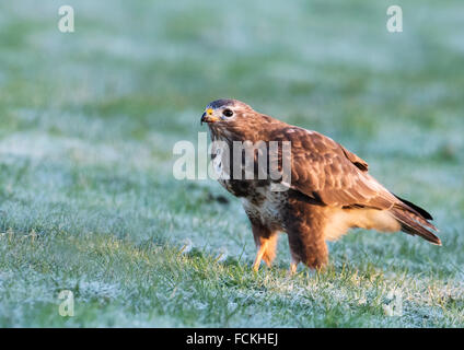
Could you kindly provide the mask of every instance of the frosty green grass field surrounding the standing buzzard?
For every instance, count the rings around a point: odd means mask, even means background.
[[[0,4],[0,326],[464,326],[462,1],[395,2],[402,34],[386,1],[67,3],[73,34]],[[171,171],[218,97],[340,141],[443,246],[358,231],[289,278],[281,236],[253,273],[239,201]]]

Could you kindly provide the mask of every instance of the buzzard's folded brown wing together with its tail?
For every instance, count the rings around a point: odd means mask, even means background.
[[[368,163],[339,143],[315,131],[287,127],[274,140],[291,141],[291,188],[337,208],[387,210],[402,231],[441,244],[424,209],[390,192],[368,173]]]

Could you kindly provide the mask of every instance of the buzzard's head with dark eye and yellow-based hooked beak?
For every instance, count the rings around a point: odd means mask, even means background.
[[[208,122],[210,127],[232,126],[253,112],[252,107],[237,100],[216,100],[206,106],[201,124]]]

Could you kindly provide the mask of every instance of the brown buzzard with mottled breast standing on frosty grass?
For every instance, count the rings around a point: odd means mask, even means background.
[[[212,162],[228,167],[229,174],[242,162],[242,159],[223,162],[223,153],[229,152],[233,159],[236,141],[254,144],[263,141],[267,145],[271,141],[291,142],[288,190],[274,191],[275,180],[270,177],[250,179],[231,175],[218,179],[241,198],[251,221],[257,247],[255,271],[263,259],[268,266],[272,262],[279,232],[288,235],[290,273],[299,262],[323,268],[328,260],[326,241],[339,238],[350,228],[403,231],[441,245],[433,233],[437,228],[429,222],[432,217],[426,210],[388,191],[369,174],[366,161],[330,138],[255,112],[236,100],[208,104],[202,122],[208,124],[211,140],[219,144],[217,149],[223,151],[218,161],[216,158],[221,152],[216,150]],[[282,161],[281,150],[278,159]]]

